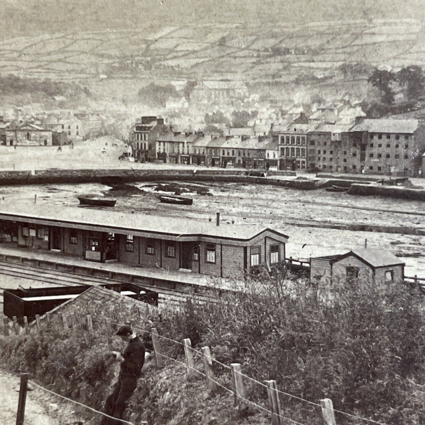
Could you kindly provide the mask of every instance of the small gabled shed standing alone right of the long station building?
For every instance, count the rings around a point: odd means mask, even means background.
[[[335,283],[383,285],[404,280],[405,263],[382,249],[356,249],[340,255],[310,258],[310,279]]]

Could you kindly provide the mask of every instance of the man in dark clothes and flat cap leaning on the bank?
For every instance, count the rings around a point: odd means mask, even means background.
[[[127,400],[137,387],[137,380],[142,373],[144,363],[144,345],[142,340],[133,332],[130,325],[121,326],[116,334],[126,341],[127,347],[121,354],[112,351],[116,361],[121,363],[118,382],[113,393],[106,399],[105,413],[114,418],[121,419]],[[103,416],[101,425],[119,425],[122,422]]]

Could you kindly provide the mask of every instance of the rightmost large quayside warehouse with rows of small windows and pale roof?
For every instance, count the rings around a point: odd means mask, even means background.
[[[348,172],[418,175],[425,126],[417,119],[364,119],[349,131]]]

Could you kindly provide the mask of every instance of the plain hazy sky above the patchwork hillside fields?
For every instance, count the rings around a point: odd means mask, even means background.
[[[423,17],[422,0],[1,0],[0,37],[203,23]]]

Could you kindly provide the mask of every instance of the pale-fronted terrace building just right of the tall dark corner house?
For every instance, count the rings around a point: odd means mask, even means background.
[[[173,131],[161,133],[155,141],[157,159],[170,164],[190,164],[192,144],[199,137],[197,134],[175,134]]]

